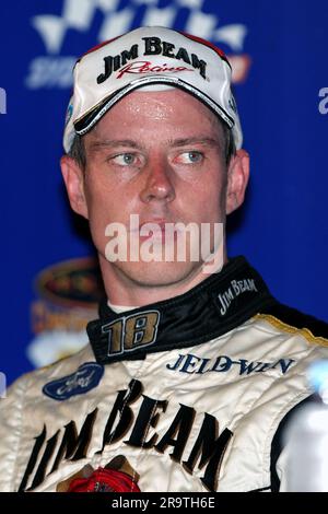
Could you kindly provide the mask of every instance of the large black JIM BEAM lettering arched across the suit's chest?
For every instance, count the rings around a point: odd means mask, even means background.
[[[134,455],[139,455],[140,448],[144,457],[148,453],[152,458],[156,454],[159,459],[163,456],[163,469],[167,466],[167,472],[168,455],[185,472],[196,475],[207,490],[216,491],[220,467],[233,432],[223,428],[214,416],[198,412],[183,402],[147,396],[138,379],[132,379],[127,389],[117,392],[116,398],[105,404],[101,401],[102,407],[85,418],[82,416],[82,422],[62,419],[56,431],[55,419],[50,417],[31,441],[31,455],[19,492],[33,491],[61,468],[62,480],[70,474],[69,463],[87,459],[92,464],[93,458],[108,453],[112,445],[116,445],[117,452],[117,443],[121,448],[137,448]],[[140,468],[138,472],[142,476],[145,470],[142,472]]]

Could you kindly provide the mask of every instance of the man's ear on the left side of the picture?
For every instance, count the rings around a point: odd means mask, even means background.
[[[60,167],[71,208],[78,214],[89,219],[83,170],[81,170],[79,164],[69,155],[61,157]]]

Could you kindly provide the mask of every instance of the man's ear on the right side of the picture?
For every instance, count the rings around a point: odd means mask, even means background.
[[[245,150],[237,150],[227,167],[226,214],[230,214],[243,203],[248,178],[249,155]]]

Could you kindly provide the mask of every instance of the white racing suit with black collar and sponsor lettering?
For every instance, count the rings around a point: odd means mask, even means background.
[[[67,490],[115,457],[144,492],[284,490],[281,429],[328,357],[325,323],[279,304],[237,257],[181,296],[104,303],[87,332],[0,400],[1,491]]]

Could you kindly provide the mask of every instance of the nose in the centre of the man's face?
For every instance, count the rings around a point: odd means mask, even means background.
[[[175,199],[173,174],[168,163],[163,159],[152,160],[148,163],[145,183],[140,194],[144,203],[151,201],[171,202]]]

